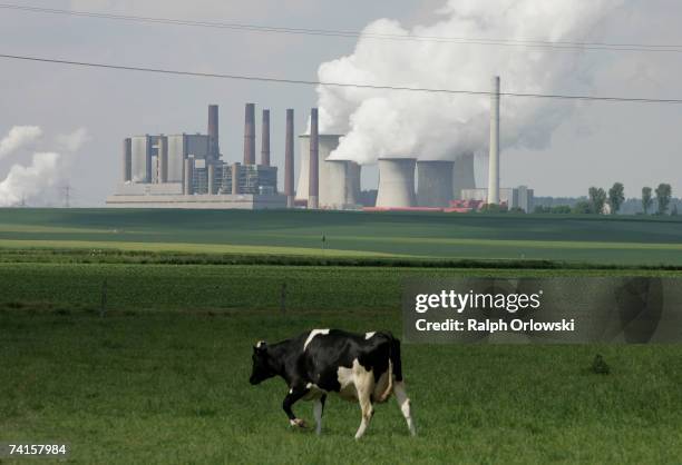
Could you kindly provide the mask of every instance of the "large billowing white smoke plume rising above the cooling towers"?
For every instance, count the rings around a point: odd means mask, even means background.
[[[623,0],[449,0],[429,26],[370,23],[368,34],[576,41]],[[603,56],[600,56],[603,59]],[[587,91],[594,62],[578,51],[360,38],[352,55],[322,63],[321,81],[437,89],[552,93]],[[320,131],[344,133],[332,158],[371,164],[381,156],[454,159],[488,147],[488,96],[360,88],[318,88]],[[501,147],[543,148],[573,105],[547,99],[501,100]]]

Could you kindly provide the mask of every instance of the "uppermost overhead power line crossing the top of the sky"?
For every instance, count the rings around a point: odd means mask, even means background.
[[[240,22],[217,22],[217,21],[193,21],[173,18],[155,18],[129,14],[115,14],[95,11],[60,10],[55,8],[40,8],[21,6],[13,3],[0,3],[0,9],[16,10],[33,13],[65,14],[81,18],[98,18],[119,21],[187,26],[213,29],[230,29],[249,32],[303,34],[303,36],[324,36],[341,37],[351,39],[377,39],[377,40],[398,40],[398,41],[426,41],[455,44],[477,44],[477,46],[501,46],[501,47],[533,47],[551,48],[559,50],[606,50],[606,51],[635,51],[635,52],[666,52],[682,53],[682,44],[654,44],[654,43],[614,43],[614,42],[579,42],[579,41],[548,41],[530,39],[485,39],[466,37],[442,37],[442,36],[416,36],[396,33],[376,33],[353,30],[338,29],[306,29],[288,28],[281,26],[249,24]]]

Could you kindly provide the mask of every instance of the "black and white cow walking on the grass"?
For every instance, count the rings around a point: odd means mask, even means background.
[[[358,335],[313,329],[277,344],[261,340],[253,348],[250,382],[255,385],[274,376],[284,378],[289,386],[282,407],[292,426],[305,427],[292,412],[293,404],[313,400],[315,431],[320,434],[327,394],[333,392],[360,404],[362,421],[355,433],[359,439],[374,413],[372,404],[386,402],[392,393],[410,434],[416,434],[402,380],[400,340],[389,333]]]

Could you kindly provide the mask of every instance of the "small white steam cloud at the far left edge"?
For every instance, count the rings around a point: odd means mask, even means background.
[[[0,141],[0,158],[29,144],[38,141],[42,130],[37,126],[14,126]],[[67,152],[80,149],[88,139],[85,128],[68,135],[59,135],[56,144]],[[36,152],[28,166],[14,164],[7,177],[0,181],[0,207],[19,205],[25,200],[45,196],[64,178],[69,157],[55,151]]]

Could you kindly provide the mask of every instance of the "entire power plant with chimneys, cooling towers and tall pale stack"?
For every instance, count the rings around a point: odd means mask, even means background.
[[[330,155],[342,135],[320,133],[319,112],[310,112],[310,132],[299,136],[294,152],[294,110],[286,110],[284,189],[277,189],[277,167],[271,157],[271,111],[261,113],[261,157],[256,162],[256,108],[244,106],[243,158],[223,160],[218,107],[208,106],[207,133],[144,135],[124,139],[117,191],[110,207],[148,208],[309,208],[409,209],[461,211],[461,202],[505,204],[532,209],[533,189],[499,187],[500,80],[490,92],[488,186],[476,188],[472,151],[449,159],[379,157],[379,186],[373,205],[361,205],[362,167]],[[294,168],[299,178],[294,189]],[[417,182],[416,178],[417,177]],[[364,200],[367,202],[367,200]],[[464,208],[466,210],[466,208]]]

